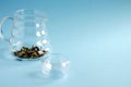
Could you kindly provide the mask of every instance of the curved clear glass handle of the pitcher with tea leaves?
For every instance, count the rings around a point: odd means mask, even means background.
[[[13,21],[13,17],[5,16],[5,17],[2,18],[2,21],[0,23],[0,38],[5,40],[5,41],[9,41],[10,38],[4,37],[3,32],[2,32],[2,25],[7,20]]]

